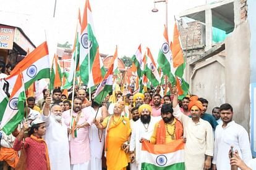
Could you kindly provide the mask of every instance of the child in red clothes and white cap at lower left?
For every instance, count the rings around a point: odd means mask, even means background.
[[[27,155],[26,158],[26,169],[27,170],[49,170],[49,156],[48,148],[43,140],[42,136],[45,135],[46,127],[45,122],[37,118],[31,123],[31,128],[28,131],[30,137],[25,138],[23,141],[23,136],[25,131],[28,129],[29,124],[27,122],[23,123],[23,128],[19,135],[16,137],[14,142],[14,150],[21,150],[22,147],[25,148]]]

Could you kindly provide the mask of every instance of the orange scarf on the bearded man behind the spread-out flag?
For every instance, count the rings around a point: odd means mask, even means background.
[[[176,118],[174,118],[176,119]],[[175,139],[181,139],[183,135],[183,126],[181,122],[176,119],[175,123],[176,129],[175,129]],[[163,119],[161,119],[158,123],[158,127],[156,129],[156,144],[165,144],[165,132],[166,132],[166,127],[164,124]]]

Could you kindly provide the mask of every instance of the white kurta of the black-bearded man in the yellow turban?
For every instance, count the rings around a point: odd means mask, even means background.
[[[134,163],[131,166],[131,169],[141,169],[141,154],[140,151],[142,149],[142,144],[140,143],[140,139],[143,137],[147,140],[150,140],[150,137],[153,134],[155,124],[160,121],[161,117],[153,117],[151,116],[150,123],[144,124],[140,119],[135,121],[132,125],[132,135],[130,137],[130,151],[135,151],[135,165]],[[147,129],[146,129],[147,127]]]

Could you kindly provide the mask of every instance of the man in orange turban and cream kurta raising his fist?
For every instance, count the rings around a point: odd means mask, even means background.
[[[184,127],[184,136],[187,142],[184,148],[186,169],[209,169],[213,156],[213,129],[208,123],[200,118],[203,105],[198,97],[190,97],[189,111],[191,117],[184,115],[178,105],[176,87],[173,88],[173,115],[181,120]]]

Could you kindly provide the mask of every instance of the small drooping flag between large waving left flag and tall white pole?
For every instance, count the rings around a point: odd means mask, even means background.
[[[54,87],[61,87],[62,83],[62,73],[61,73],[61,67],[59,67],[59,62],[58,62],[58,56],[54,54],[53,57],[53,65],[51,67],[51,84],[50,84],[50,89],[53,90]]]

